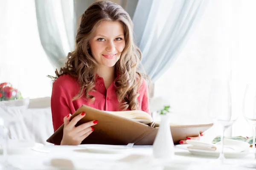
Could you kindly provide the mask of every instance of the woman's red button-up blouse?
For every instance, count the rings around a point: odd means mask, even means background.
[[[81,105],[88,105],[102,111],[118,111],[119,102],[115,92],[115,86],[112,82],[108,90],[105,88],[102,77],[96,77],[96,91],[90,91],[90,95],[95,96],[95,102],[90,102],[90,99],[81,97],[72,101],[80,91],[80,85],[76,79],[69,74],[63,74],[53,82],[51,109],[52,109],[52,124],[54,131],[56,131],[62,124],[64,116],[69,113],[73,114],[81,107]],[[139,88],[138,103],[139,109],[150,114],[148,86],[145,79]],[[129,109],[128,109],[129,110]]]

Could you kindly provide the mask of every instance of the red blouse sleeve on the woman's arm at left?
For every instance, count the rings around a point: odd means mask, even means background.
[[[64,123],[64,117],[71,113],[67,96],[56,81],[52,85],[51,109],[53,129],[56,131]]]

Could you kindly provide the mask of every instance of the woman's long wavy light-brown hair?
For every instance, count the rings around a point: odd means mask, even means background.
[[[140,49],[134,43],[133,23],[129,14],[116,3],[110,1],[99,1],[93,3],[87,8],[80,17],[80,26],[76,35],[76,48],[73,52],[68,53],[65,66],[56,69],[56,77],[62,74],[70,74],[76,78],[81,85],[79,94],[74,96],[76,100],[83,95],[95,100],[94,96],[88,94],[89,91],[95,90],[96,85],[96,68],[98,63],[90,52],[90,39],[93,32],[102,21],[118,21],[122,24],[125,36],[125,48],[123,49],[120,59],[116,62],[116,69],[119,71],[119,77],[115,79],[116,95],[120,103],[119,109],[131,110],[138,109],[137,97],[138,90],[142,84],[144,74],[140,74],[138,67],[142,59]]]

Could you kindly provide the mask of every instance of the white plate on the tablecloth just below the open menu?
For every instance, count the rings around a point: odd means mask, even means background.
[[[126,147],[126,145],[110,144],[80,144],[78,146],[94,153],[120,153],[132,149],[130,147]]]

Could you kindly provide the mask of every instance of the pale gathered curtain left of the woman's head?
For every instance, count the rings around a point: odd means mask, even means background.
[[[75,48],[73,0],[35,0],[35,9],[41,44],[59,68]]]

